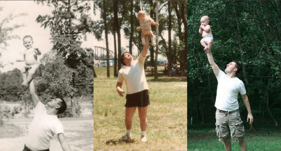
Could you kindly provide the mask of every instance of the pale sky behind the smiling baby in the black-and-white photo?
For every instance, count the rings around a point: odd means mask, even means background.
[[[14,68],[22,68],[24,62],[15,62],[15,60],[21,57],[21,52],[26,50],[22,41],[22,38],[26,35],[31,35],[34,41],[33,46],[36,46],[41,50],[42,54],[37,56],[39,61],[43,54],[51,50],[53,45],[50,40],[50,28],[44,29],[44,27],[40,27],[41,24],[36,22],[36,17],[39,15],[51,15],[53,8],[46,5],[42,6],[42,4],[37,4],[34,1],[0,1],[0,6],[3,7],[3,10],[0,12],[0,22],[10,13],[13,15],[27,13],[27,16],[19,16],[6,24],[7,26],[12,26],[14,24],[24,24],[25,26],[20,27],[11,33],[11,35],[18,35],[20,39],[12,39],[7,41],[9,46],[6,47],[6,50],[1,50],[0,48],[0,52],[2,53],[0,61],[3,65],[5,65],[4,68],[0,68],[0,71],[7,72],[13,70]],[[93,11],[94,10],[92,8],[92,10],[89,11],[89,14],[91,14],[94,18],[94,14],[92,13]],[[83,41],[81,47],[93,48],[93,41],[93,34],[88,34],[87,41]],[[14,64],[12,65],[10,62],[13,62]]]

